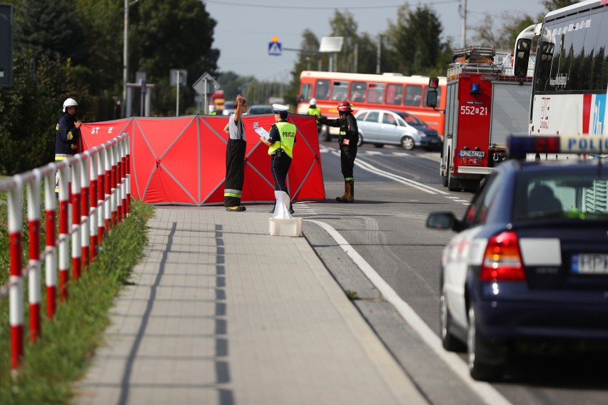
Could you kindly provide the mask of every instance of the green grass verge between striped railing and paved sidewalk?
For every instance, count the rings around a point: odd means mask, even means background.
[[[35,344],[29,342],[26,310],[24,363],[17,376],[10,369],[8,299],[1,300],[0,404],[70,403],[74,381],[84,375],[102,343],[113,300],[143,255],[148,240],[146,222],[152,216],[151,205],[133,201],[131,216],[108,233],[82,277],[69,282],[69,300],[57,304],[54,319],[43,315],[42,336]],[[42,301],[41,313],[46,314],[44,295]]]

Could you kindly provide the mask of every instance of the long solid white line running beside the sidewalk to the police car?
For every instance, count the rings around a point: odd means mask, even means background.
[[[427,346],[430,347],[430,349],[432,349],[432,351],[435,352],[435,354],[437,354],[437,356],[440,357],[440,359],[442,359],[442,361],[445,362],[445,364],[447,364],[447,366],[449,366],[450,369],[452,369],[452,371],[454,371],[454,373],[459,376],[470,389],[472,389],[472,391],[477,393],[482,401],[485,401],[485,403],[489,405],[511,404],[510,401],[502,396],[502,394],[500,394],[500,392],[498,392],[492,385],[472,379],[467,364],[462,362],[462,359],[460,359],[457,354],[453,352],[446,352],[445,349],[443,349],[441,339],[435,334],[435,332],[433,332],[432,329],[425,324],[425,322],[418,316],[418,314],[416,314],[414,309],[412,309],[407,302],[403,301],[403,299],[399,297],[397,292],[395,292],[395,290],[392,289],[392,287],[390,287],[390,285],[385,282],[380,275],[378,275],[378,272],[376,272],[373,267],[370,266],[370,264],[363,259],[363,257],[361,257],[361,255],[359,255],[352,246],[350,246],[348,241],[345,240],[337,230],[325,222],[320,222],[317,220],[306,221],[319,225],[333,237],[335,242],[342,247],[342,250],[344,250],[344,252],[346,252],[346,254],[353,260],[353,262],[358,265],[363,274],[365,274],[375,285],[375,287],[378,288],[378,291],[380,291],[382,296],[385,297],[387,302],[392,304],[392,306],[397,309],[397,312],[399,312],[401,317],[405,319],[405,322],[410,324],[415,332],[417,332],[422,341],[424,341]]]

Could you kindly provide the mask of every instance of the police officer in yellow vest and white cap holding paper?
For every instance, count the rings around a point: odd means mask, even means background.
[[[261,137],[260,141],[268,146],[270,155],[270,171],[275,178],[275,190],[284,191],[289,195],[285,179],[293,159],[293,145],[295,145],[296,128],[293,123],[288,123],[288,106],[273,104],[273,113],[276,123],[270,127],[268,140]],[[276,205],[276,202],[275,202]],[[273,210],[274,211],[274,210]],[[293,214],[293,205],[290,203],[289,212]]]

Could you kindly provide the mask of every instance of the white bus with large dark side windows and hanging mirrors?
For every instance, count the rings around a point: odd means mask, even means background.
[[[515,76],[525,76],[534,48],[530,135],[608,135],[608,0],[550,11],[522,31]]]

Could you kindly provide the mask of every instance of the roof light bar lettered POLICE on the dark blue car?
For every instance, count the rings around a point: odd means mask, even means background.
[[[527,153],[608,153],[608,137],[602,135],[510,136],[509,155]]]

